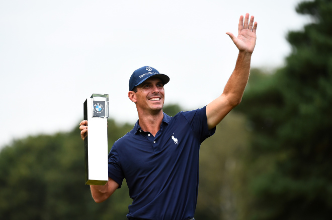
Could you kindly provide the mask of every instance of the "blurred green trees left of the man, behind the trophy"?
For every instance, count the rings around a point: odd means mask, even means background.
[[[129,125],[114,120],[108,124],[111,147]],[[131,202],[126,183],[111,199],[97,204],[84,184],[84,170],[78,127],[68,133],[16,140],[0,152],[0,218],[125,219]]]

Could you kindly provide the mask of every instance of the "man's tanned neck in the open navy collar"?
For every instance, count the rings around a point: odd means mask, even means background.
[[[153,136],[160,129],[163,113],[160,110],[157,114],[138,113],[138,123],[143,131],[150,132]]]

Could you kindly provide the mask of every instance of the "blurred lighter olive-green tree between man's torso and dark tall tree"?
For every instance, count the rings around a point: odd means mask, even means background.
[[[248,131],[243,114],[230,112],[200,148],[200,181],[195,219],[238,219],[246,206],[243,158]]]

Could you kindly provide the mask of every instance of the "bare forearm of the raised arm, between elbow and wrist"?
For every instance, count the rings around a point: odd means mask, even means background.
[[[238,53],[234,71],[222,93],[232,105],[238,105],[241,102],[249,78],[251,57],[252,53],[241,51]]]

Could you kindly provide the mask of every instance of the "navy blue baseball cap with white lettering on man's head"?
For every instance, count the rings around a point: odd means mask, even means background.
[[[152,67],[145,66],[135,70],[133,74],[131,74],[131,77],[129,79],[129,91],[132,91],[135,86],[138,86],[150,77],[157,77],[161,79],[164,85],[170,81],[170,77],[164,74],[160,74],[156,69]]]

